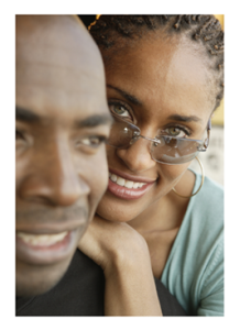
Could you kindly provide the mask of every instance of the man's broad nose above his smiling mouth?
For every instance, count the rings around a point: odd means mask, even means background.
[[[33,155],[34,157],[34,155]],[[74,205],[90,193],[88,184],[79,176],[69,146],[63,143],[46,147],[46,152],[35,155],[29,175],[20,185],[20,197],[35,202],[54,206]]]

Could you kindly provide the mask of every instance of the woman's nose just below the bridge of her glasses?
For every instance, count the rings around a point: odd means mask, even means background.
[[[126,150],[117,150],[118,157],[123,161],[129,169],[141,173],[155,166],[151,156],[151,142],[139,139]]]

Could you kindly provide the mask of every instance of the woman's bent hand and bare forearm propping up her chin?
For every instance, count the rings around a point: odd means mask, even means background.
[[[133,228],[96,216],[78,248],[105,272],[105,316],[162,316],[148,244]]]

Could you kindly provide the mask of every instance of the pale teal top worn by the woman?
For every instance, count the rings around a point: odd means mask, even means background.
[[[201,175],[196,174],[194,191]],[[223,316],[223,189],[205,178],[190,198],[161,277],[189,316]]]

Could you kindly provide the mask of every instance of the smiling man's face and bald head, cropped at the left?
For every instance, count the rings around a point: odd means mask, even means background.
[[[41,21],[42,20],[42,21]],[[100,55],[73,18],[17,18],[17,295],[66,272],[107,187]]]

